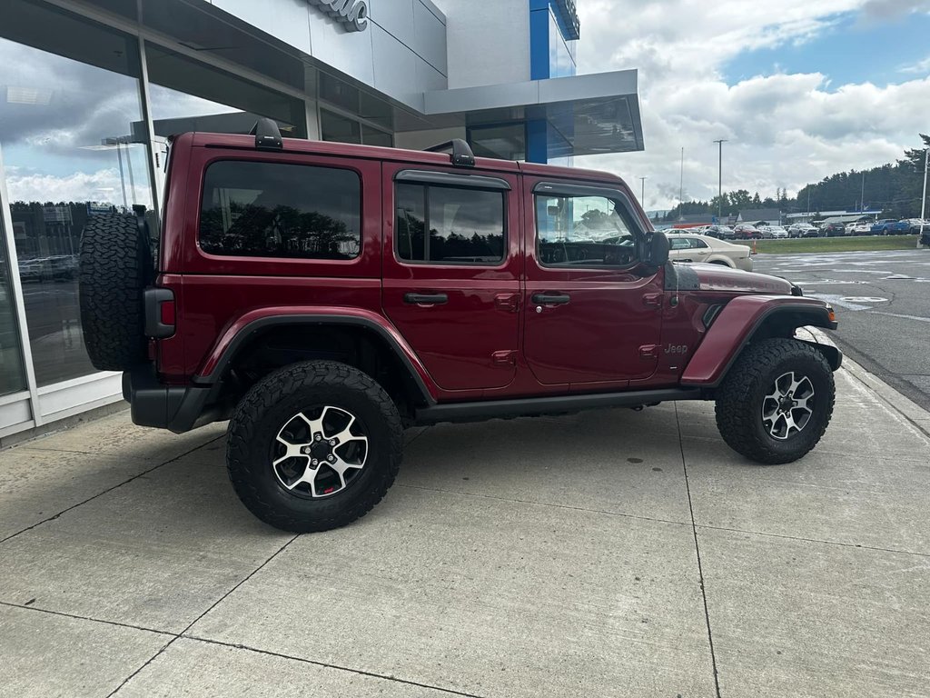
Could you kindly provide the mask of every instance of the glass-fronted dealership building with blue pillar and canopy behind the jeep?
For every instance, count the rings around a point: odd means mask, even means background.
[[[531,162],[643,150],[636,71],[578,75],[583,31],[576,0],[0,0],[0,440],[122,399],[76,253],[88,216],[158,211],[168,136],[268,117]]]

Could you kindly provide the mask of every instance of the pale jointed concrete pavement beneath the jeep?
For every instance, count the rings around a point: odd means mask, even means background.
[[[0,695],[925,696],[930,415],[836,378],[800,463],[711,403],[440,425],[299,537],[236,500],[224,425],[2,451]]]

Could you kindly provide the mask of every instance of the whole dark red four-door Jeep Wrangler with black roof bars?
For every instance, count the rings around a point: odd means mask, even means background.
[[[829,305],[668,262],[616,176],[435,150],[176,138],[157,239],[112,214],[81,247],[87,350],[133,421],[230,420],[233,487],[294,531],[378,503],[416,424],[715,400],[752,460],[814,448],[842,356],[795,330]]]

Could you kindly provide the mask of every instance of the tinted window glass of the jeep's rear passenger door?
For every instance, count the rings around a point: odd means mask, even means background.
[[[434,264],[503,261],[503,192],[398,184],[395,201],[399,259]]]

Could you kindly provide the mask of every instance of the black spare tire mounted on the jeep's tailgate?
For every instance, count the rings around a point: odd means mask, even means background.
[[[91,216],[81,235],[81,326],[90,362],[125,370],[146,356],[142,290],[153,279],[144,223],[133,214]]]

